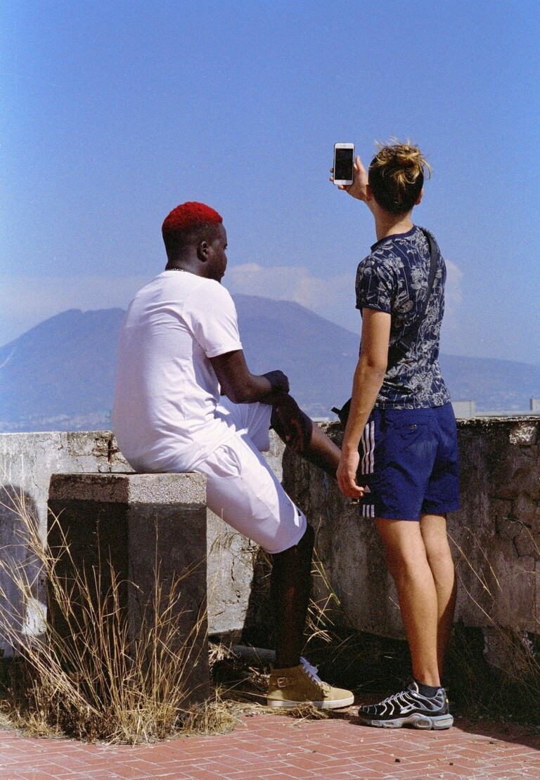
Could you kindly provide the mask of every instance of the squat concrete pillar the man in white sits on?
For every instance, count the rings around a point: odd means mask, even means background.
[[[62,550],[62,534],[73,564],[66,554],[60,555],[57,572],[69,582],[73,566],[84,570],[89,582],[98,580],[97,596],[103,601],[108,598],[112,569],[120,583],[119,607],[128,620],[131,642],[139,640],[144,626],[151,624],[156,581],[166,601],[175,578],[182,578],[181,597],[172,608],[179,628],[173,649],[189,647],[182,665],[189,668],[189,703],[207,697],[205,477],[198,473],[52,474],[48,544],[53,555]],[[69,636],[50,588],[48,608],[52,626]]]

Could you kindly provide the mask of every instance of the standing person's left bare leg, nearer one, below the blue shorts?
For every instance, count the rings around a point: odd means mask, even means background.
[[[414,678],[425,685],[440,686],[439,605],[420,523],[390,519],[376,519],[375,523],[384,544],[386,565],[396,583]]]

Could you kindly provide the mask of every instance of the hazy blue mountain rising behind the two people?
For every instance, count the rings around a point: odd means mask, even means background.
[[[281,368],[313,417],[329,417],[350,394],[358,336],[297,303],[235,296],[251,371]],[[0,349],[0,430],[109,427],[121,309],[69,310]],[[443,356],[453,399],[478,410],[525,410],[540,396],[540,367]]]

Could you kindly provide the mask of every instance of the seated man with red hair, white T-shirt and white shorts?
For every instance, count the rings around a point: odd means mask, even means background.
[[[168,263],[127,311],[119,340],[112,427],[138,472],[199,471],[208,507],[272,554],[276,668],[268,705],[353,704],[300,653],[314,532],[259,451],[270,424],[290,447],[335,474],[339,449],[297,406],[281,371],[244,359],[233,299],[222,287],[227,236],[208,206],[185,203],[163,222]]]

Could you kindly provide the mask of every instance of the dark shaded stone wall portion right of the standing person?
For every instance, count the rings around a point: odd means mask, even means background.
[[[449,521],[457,619],[484,631],[486,657],[512,668],[540,635],[540,419],[460,423],[462,509]]]

